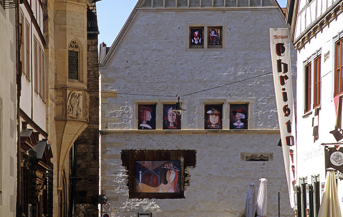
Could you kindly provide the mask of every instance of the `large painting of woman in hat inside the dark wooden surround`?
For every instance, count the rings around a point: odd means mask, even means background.
[[[179,193],[180,161],[135,161],[136,193]]]

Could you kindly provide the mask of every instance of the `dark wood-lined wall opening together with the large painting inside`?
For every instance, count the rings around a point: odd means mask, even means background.
[[[195,150],[122,150],[129,198],[185,198],[185,168],[195,166]]]

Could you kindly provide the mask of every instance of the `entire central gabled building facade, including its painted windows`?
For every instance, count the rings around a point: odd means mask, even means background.
[[[112,216],[242,216],[259,178],[267,216],[278,192],[292,216],[269,40],[285,27],[276,1],[138,1],[99,65],[100,190]],[[181,115],[169,110],[176,95]]]

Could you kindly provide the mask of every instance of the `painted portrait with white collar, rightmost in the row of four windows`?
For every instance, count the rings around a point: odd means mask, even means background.
[[[248,128],[248,105],[231,104],[230,105],[230,129],[247,129]]]

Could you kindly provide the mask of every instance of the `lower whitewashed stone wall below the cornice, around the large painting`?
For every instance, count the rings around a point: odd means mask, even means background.
[[[286,174],[277,130],[254,131],[112,131],[101,135],[101,190],[112,203],[112,216],[238,217],[245,210],[249,183],[267,178],[268,214],[291,217]],[[196,149],[196,166],[188,168],[184,199],[129,199],[122,149]],[[241,152],[273,154],[267,162],[241,160]]]

